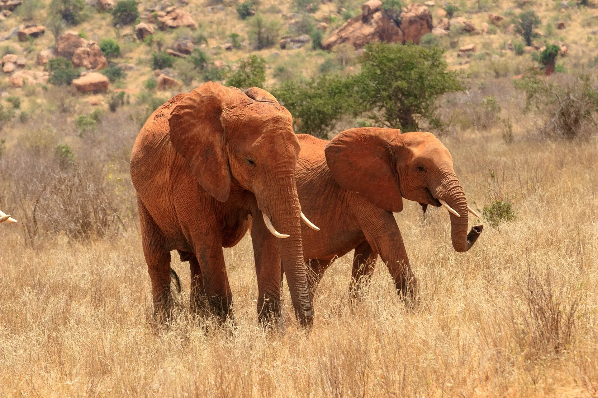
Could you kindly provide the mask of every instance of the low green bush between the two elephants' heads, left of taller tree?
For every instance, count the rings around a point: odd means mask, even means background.
[[[297,132],[327,138],[338,120],[356,110],[353,78],[319,75],[309,81],[291,80],[270,90],[295,118]]]

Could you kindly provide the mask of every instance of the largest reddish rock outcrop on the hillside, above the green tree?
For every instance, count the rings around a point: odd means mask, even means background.
[[[322,47],[332,47],[349,42],[356,49],[365,44],[377,41],[408,41],[419,44],[423,35],[432,31],[432,14],[428,7],[413,3],[401,13],[401,23],[395,21],[382,11],[382,1],[370,0],[362,5],[361,16],[351,18],[322,43]]]

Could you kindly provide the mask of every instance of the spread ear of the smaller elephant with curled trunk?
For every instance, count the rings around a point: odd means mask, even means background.
[[[390,143],[398,129],[352,128],[326,146],[328,168],[343,189],[359,192],[379,208],[403,209]]]

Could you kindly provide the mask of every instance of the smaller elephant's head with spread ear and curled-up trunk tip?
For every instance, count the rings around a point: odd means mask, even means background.
[[[352,128],[334,137],[325,153],[337,183],[380,208],[399,212],[402,198],[419,202],[424,209],[445,206],[457,252],[468,251],[480,236],[481,225],[467,232],[468,212],[473,211],[454,174],[449,150],[433,134]]]

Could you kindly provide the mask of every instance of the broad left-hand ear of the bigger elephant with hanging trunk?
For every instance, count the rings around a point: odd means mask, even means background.
[[[238,88],[208,82],[187,94],[170,112],[170,141],[203,189],[221,202],[230,193],[222,111],[251,102]]]

